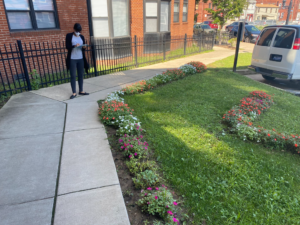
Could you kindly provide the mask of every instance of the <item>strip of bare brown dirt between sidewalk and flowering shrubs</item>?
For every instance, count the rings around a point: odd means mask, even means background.
[[[122,194],[124,198],[124,202],[126,205],[126,209],[128,212],[129,220],[131,225],[143,225],[143,224],[152,224],[155,220],[163,222],[163,220],[159,217],[152,216],[149,214],[142,213],[139,206],[136,204],[136,202],[140,199],[141,190],[136,189],[134,187],[132,176],[130,175],[129,170],[127,169],[127,166],[125,164],[126,158],[123,156],[122,152],[119,151],[119,144],[118,144],[118,136],[116,135],[116,129],[113,127],[105,126],[108,141],[111,147],[113,159],[116,165],[119,181],[121,184]],[[153,156],[150,155],[150,160],[153,160]],[[160,174],[162,175],[162,174]],[[160,176],[162,177],[162,176]],[[164,184],[166,182],[164,181]],[[180,210],[178,210],[176,217],[178,219],[183,219],[184,215],[186,215],[186,210],[183,209],[183,201],[182,199],[176,195],[176,193],[172,190],[170,186],[168,186],[168,189],[173,193],[173,196],[175,199],[177,199],[177,202],[182,203]],[[185,224],[190,224],[191,220],[186,221]],[[180,223],[182,224],[182,223]]]

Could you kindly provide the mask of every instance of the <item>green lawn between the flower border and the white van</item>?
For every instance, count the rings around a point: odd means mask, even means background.
[[[244,142],[221,123],[223,113],[241,98],[263,90],[275,94],[276,105],[259,123],[300,131],[292,123],[300,99],[232,73],[227,63],[232,65],[232,59],[212,64],[206,73],[126,96],[126,102],[147,130],[164,176],[195,214],[195,224],[300,224],[299,156]]]

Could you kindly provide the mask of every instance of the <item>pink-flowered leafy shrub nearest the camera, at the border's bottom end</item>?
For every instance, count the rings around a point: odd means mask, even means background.
[[[157,215],[173,222],[177,220],[174,217],[177,202],[174,200],[172,193],[164,185],[160,188],[142,190],[141,197],[137,204],[142,208],[143,212]]]

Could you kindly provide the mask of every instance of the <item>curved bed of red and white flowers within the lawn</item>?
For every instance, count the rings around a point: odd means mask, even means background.
[[[253,91],[250,96],[243,98],[240,105],[234,106],[223,120],[231,131],[243,140],[262,142],[275,149],[288,149],[299,154],[300,136],[298,134],[279,133],[275,129],[266,130],[261,126],[253,126],[261,113],[268,110],[273,104],[272,96],[262,91]]]

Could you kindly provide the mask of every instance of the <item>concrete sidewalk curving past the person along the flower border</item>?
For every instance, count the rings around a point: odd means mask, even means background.
[[[126,84],[214,52],[86,79],[89,96],[69,100],[70,84],[13,96],[0,110],[0,225],[130,224],[99,99]]]

